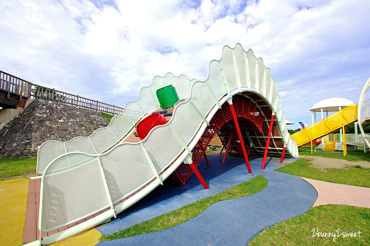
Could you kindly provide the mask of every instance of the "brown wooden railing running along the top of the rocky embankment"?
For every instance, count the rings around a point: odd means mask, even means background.
[[[26,98],[61,102],[64,104],[94,109],[96,111],[106,112],[113,115],[120,114],[123,111],[123,108],[121,107],[91,100],[85,97],[80,97],[79,95],[58,91],[54,88],[52,89],[43,87],[41,85],[36,85],[3,71],[0,71],[0,80],[0,90],[8,92],[8,99],[10,98],[10,93],[13,93]]]

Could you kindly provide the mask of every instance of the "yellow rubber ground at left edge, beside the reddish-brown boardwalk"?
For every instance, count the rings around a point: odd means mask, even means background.
[[[21,245],[26,218],[28,178],[0,181],[0,245]]]

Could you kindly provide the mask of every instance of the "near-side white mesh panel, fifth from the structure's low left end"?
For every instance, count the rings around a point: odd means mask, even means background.
[[[194,103],[204,117],[215,104],[206,82],[200,81],[193,84],[189,100]]]

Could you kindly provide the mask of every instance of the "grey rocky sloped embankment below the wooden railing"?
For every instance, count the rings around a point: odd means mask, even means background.
[[[0,129],[0,158],[37,156],[45,141],[89,136],[108,124],[97,111],[35,100]]]

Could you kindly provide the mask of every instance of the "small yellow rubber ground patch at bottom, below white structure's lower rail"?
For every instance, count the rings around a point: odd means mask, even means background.
[[[50,246],[94,246],[100,242],[101,233],[98,230],[90,229],[73,237],[60,240]]]

